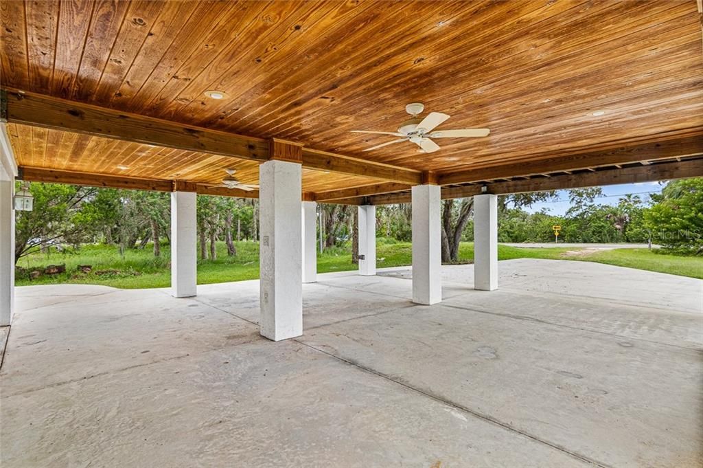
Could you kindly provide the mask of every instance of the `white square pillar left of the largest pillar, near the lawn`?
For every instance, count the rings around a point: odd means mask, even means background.
[[[195,296],[198,285],[198,195],[171,194],[171,293],[176,298]]]

